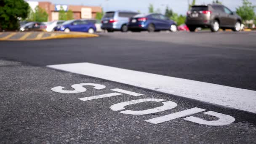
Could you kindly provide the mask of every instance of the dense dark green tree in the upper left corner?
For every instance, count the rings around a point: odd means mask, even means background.
[[[0,30],[19,28],[18,18],[25,19],[29,4],[24,0],[0,0]]]

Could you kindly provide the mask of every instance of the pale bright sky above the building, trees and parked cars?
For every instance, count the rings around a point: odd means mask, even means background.
[[[192,0],[30,0],[30,1],[49,1],[54,4],[67,5],[87,5],[87,6],[102,6],[104,11],[115,10],[131,10],[148,13],[149,4],[153,4],[155,10],[160,9],[164,13],[166,5],[172,8],[175,13],[186,14],[188,10],[188,1]],[[213,0],[196,0],[196,4],[208,4]],[[235,8],[242,5],[242,0],[219,0],[223,5],[235,11]],[[253,5],[256,5],[256,0],[250,0]]]

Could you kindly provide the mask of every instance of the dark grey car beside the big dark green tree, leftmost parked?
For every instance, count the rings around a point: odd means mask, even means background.
[[[20,27],[20,31],[42,31],[46,26],[40,22],[29,22]]]

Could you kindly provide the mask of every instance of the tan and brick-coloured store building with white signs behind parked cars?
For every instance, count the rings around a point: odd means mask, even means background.
[[[43,8],[48,13],[48,21],[59,20],[59,11],[63,8],[64,11],[71,10],[73,12],[74,19],[93,19],[96,17],[96,13],[102,12],[100,6],[84,6],[84,5],[62,5],[52,4],[51,2],[37,2],[27,1],[32,10],[35,10],[37,6]]]

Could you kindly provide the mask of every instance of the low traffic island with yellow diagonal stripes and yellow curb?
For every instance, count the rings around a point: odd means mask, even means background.
[[[0,40],[48,40],[60,38],[98,37],[85,32],[0,32]]]

